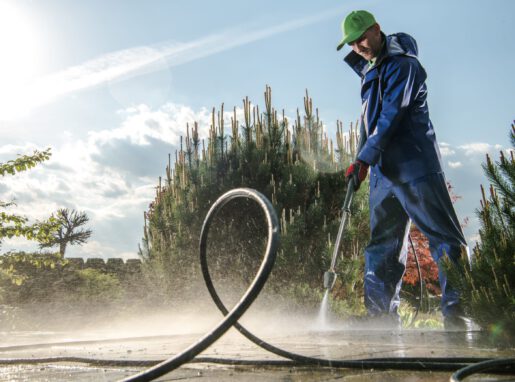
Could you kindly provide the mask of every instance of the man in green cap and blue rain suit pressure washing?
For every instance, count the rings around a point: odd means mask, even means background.
[[[372,14],[351,12],[337,47],[352,48],[345,61],[361,77],[362,126],[366,137],[346,171],[357,190],[370,176],[370,242],[365,249],[365,306],[375,319],[399,322],[399,291],[406,265],[411,220],[429,239],[438,264],[446,328],[465,328],[459,296],[442,268],[456,264],[465,238],[449,197],[426,102],[426,72],[415,40],[385,36]]]

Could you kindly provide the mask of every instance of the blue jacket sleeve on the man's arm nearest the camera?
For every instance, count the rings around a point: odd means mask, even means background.
[[[375,129],[367,138],[358,154],[358,159],[375,165],[393,134],[398,130],[402,117],[416,95],[415,77],[418,61],[415,58],[400,57],[385,67],[382,108]]]

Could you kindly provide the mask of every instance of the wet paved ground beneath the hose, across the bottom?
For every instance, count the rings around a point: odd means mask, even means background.
[[[256,325],[254,325],[256,326]],[[256,326],[258,327],[258,326]],[[250,329],[250,327],[249,327]],[[352,330],[348,327],[317,330],[305,325],[294,328],[259,328],[266,341],[288,351],[331,359],[382,357],[515,357],[514,348],[501,349],[481,332],[443,330]],[[270,329],[270,330],[269,330]],[[278,334],[279,333],[279,334]],[[146,337],[114,338],[107,332],[0,333],[2,359],[85,357],[100,360],[163,360],[194,343],[204,333],[164,333]],[[98,341],[96,339],[99,339]],[[39,344],[39,345],[38,345]],[[279,360],[234,330],[201,354],[240,360]],[[78,362],[0,365],[2,381],[116,381],[145,367],[94,366]],[[189,363],[159,381],[448,381],[451,372],[413,372],[332,369],[313,366],[230,366]],[[513,376],[472,376],[467,381],[513,380]]]

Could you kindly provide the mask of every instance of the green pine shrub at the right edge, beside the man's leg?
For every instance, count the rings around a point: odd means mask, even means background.
[[[515,148],[515,126],[511,143]],[[477,211],[480,241],[473,260],[460,260],[462,272],[447,265],[449,277],[459,285],[466,313],[495,340],[515,340],[515,158],[501,152],[500,160],[489,156],[483,169],[491,181],[488,196],[481,186]],[[458,270],[457,270],[458,269]]]

